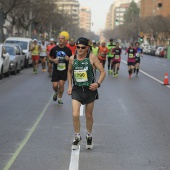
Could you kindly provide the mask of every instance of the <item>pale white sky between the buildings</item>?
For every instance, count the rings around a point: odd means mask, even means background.
[[[92,31],[105,28],[106,16],[114,0],[79,0],[80,6],[91,8]]]

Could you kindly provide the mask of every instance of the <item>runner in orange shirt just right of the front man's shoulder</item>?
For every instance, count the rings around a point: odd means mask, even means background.
[[[105,67],[105,63],[106,63],[106,55],[108,54],[109,49],[106,47],[106,43],[102,42],[101,46],[99,46],[99,55],[98,58],[100,60],[100,62],[103,65],[103,68]]]

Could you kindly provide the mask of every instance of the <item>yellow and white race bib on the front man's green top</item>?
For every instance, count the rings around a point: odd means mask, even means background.
[[[74,70],[74,77],[77,82],[88,81],[86,70]]]

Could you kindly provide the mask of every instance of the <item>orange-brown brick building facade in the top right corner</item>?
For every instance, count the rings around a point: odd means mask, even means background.
[[[170,0],[141,0],[141,17],[170,16]]]

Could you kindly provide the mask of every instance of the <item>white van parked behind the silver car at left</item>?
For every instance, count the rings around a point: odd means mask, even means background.
[[[25,53],[25,67],[27,68],[32,64],[30,47],[33,43],[33,40],[31,38],[8,37],[4,43],[19,44]]]

